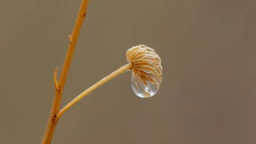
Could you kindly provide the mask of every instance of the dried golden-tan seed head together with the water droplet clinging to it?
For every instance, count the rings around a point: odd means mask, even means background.
[[[162,81],[162,67],[159,55],[152,48],[141,44],[127,50],[127,61],[132,63],[131,70],[134,83],[132,88],[134,91],[136,89],[138,92],[143,91],[142,97],[154,95]],[[152,89],[156,89],[153,90],[156,92],[152,93]]]

